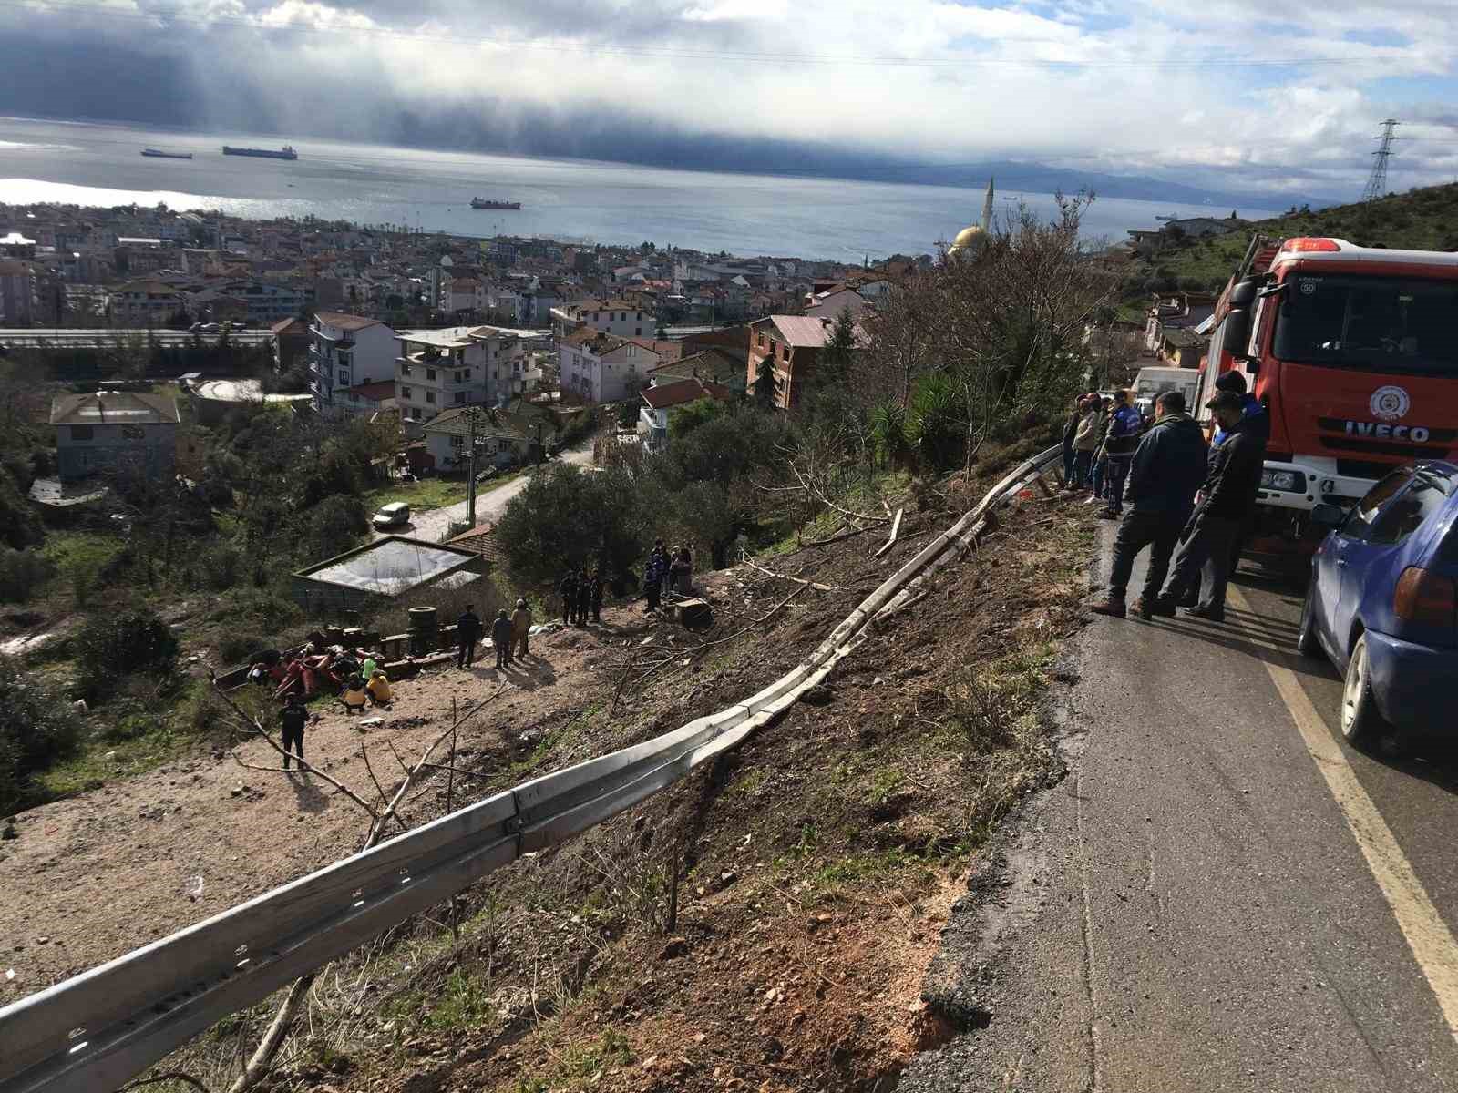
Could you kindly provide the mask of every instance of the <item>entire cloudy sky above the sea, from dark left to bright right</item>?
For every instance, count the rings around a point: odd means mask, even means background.
[[[0,0],[0,112],[793,172],[1458,178],[1454,0]],[[859,168],[847,166],[847,173]]]

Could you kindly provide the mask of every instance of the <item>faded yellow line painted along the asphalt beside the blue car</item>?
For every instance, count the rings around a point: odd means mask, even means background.
[[[1255,614],[1250,600],[1233,584],[1228,598],[1242,611]],[[1290,656],[1268,641],[1257,640],[1257,644],[1273,650],[1282,660]],[[1411,863],[1403,854],[1397,837],[1387,826],[1368,791],[1362,788],[1346,752],[1321,720],[1296,673],[1284,663],[1271,659],[1266,659],[1264,663],[1296,729],[1301,730],[1306,751],[1311,752],[1321,777],[1327,780],[1327,788],[1341,809],[1341,816],[1357,841],[1372,877],[1392,908],[1417,966],[1438,995],[1438,1006],[1448,1020],[1448,1030],[1458,1041],[1458,940],[1454,940],[1448,924],[1438,914],[1423,882],[1417,879]]]

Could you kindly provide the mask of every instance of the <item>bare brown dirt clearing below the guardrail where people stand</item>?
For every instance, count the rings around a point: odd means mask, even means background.
[[[604,625],[547,634],[534,643],[528,672],[504,673],[502,695],[462,726],[462,752],[499,748],[558,711],[580,705],[592,675],[588,662],[604,638],[631,625],[628,612],[604,612]],[[618,638],[621,641],[621,638]],[[491,695],[503,673],[484,665],[445,667],[395,686],[388,711],[347,718],[337,707],[309,726],[305,753],[363,797],[373,797],[360,758],[367,748],[386,790],[405,762],[451,724],[461,708]],[[363,720],[383,717],[382,724]],[[246,761],[277,767],[262,742],[239,748]],[[242,790],[239,790],[242,787]],[[443,810],[443,790],[424,783],[407,803],[416,826]],[[483,796],[481,783],[459,783],[462,803]],[[249,896],[359,848],[364,815],[321,778],[286,777],[239,767],[213,752],[127,778],[93,793],[22,813],[19,838],[0,842],[0,1003],[201,921]],[[197,892],[201,877],[201,895]],[[10,978],[9,972],[15,976]]]

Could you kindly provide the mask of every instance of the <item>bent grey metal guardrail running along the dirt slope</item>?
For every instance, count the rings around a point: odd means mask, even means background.
[[[907,584],[1061,456],[1022,463],[862,603],[809,657],[744,702],[442,816],[171,937],[0,1008],[0,1093],[112,1089],[292,979],[554,847],[735,748],[830,675]]]

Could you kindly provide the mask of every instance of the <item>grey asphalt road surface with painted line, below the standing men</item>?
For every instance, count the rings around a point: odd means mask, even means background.
[[[1458,762],[1343,745],[1299,611],[1242,574],[1223,625],[1076,638],[1069,774],[989,850],[929,978],[986,1027],[903,1093],[1458,1090]]]

